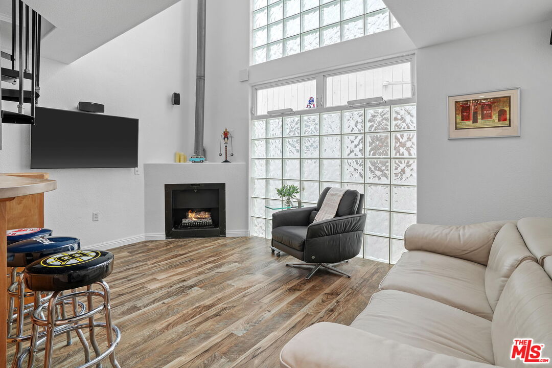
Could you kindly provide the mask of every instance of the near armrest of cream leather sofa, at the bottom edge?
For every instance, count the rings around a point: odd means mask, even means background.
[[[283,368],[491,368],[494,365],[437,354],[395,340],[321,322],[295,335],[280,352]]]

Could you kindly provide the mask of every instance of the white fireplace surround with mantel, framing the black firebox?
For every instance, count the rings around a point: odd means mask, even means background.
[[[146,240],[165,239],[164,185],[186,183],[226,183],[226,236],[249,236],[245,162],[145,163]]]

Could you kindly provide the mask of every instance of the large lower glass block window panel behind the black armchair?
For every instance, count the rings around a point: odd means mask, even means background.
[[[251,231],[270,237],[275,189],[299,186],[314,206],[327,186],[364,193],[365,258],[395,263],[416,223],[416,105],[386,105],[253,120]]]

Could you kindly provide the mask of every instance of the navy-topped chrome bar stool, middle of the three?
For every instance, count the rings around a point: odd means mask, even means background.
[[[46,238],[35,238],[12,243],[7,247],[7,266],[12,268],[11,275],[14,282],[8,287],[8,296],[10,298],[8,306],[8,343],[15,344],[15,355],[12,366],[20,354],[23,342],[30,340],[30,335],[23,335],[23,326],[25,314],[33,311],[33,304],[25,305],[25,297],[34,296],[34,292],[25,292],[23,282],[23,273],[17,273],[18,268],[23,268],[36,260],[43,259],[59,252],[70,252],[81,248],[78,238],[54,236]],[[45,294],[45,293],[43,293]],[[47,299],[39,294],[41,300]],[[17,306],[14,307],[14,302]],[[82,304],[81,309],[84,309]],[[65,315],[65,304],[60,306],[61,314]],[[12,335],[13,323],[17,322],[17,333]],[[67,335],[67,344],[71,344],[71,335]]]

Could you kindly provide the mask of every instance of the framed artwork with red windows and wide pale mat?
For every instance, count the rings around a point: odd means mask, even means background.
[[[449,139],[519,136],[519,88],[448,97]]]

